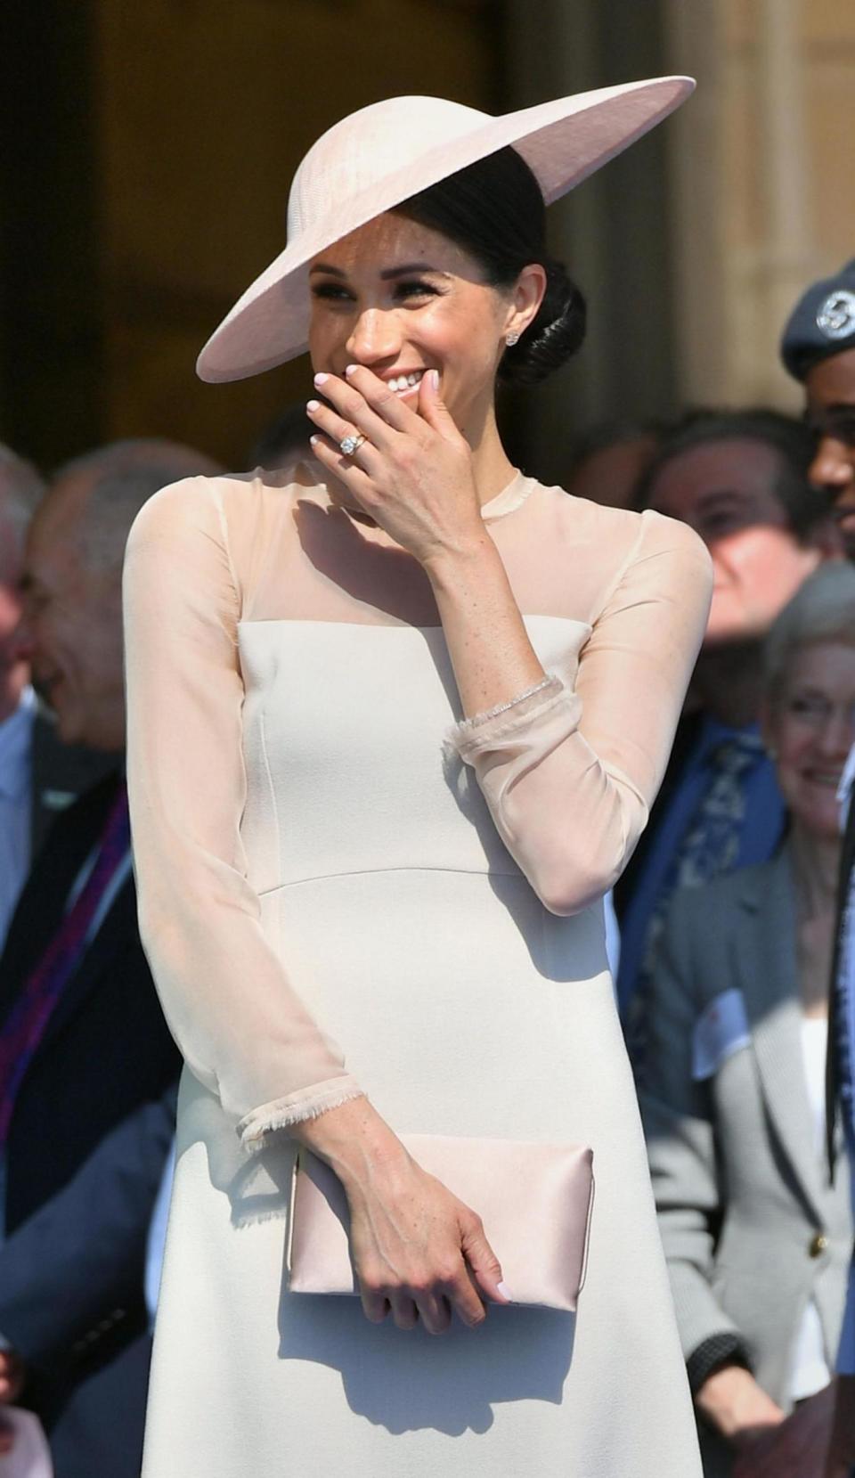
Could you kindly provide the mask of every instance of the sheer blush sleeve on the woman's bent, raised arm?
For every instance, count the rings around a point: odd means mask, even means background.
[[[644,514],[574,686],[557,674],[521,705],[455,735],[502,841],[554,913],[576,913],[607,893],[632,854],[665,773],[710,591],[709,556],[693,531]]]

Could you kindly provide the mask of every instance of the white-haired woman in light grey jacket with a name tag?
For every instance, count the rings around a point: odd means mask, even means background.
[[[852,1228],[825,1169],[825,1042],[855,742],[855,571],[774,624],[763,730],[790,826],[768,863],[681,894],[645,1015],[642,1114],[707,1475],[752,1471],[834,1369]],[[781,1454],[783,1465],[783,1454]],[[796,1471],[794,1468],[792,1469]]]

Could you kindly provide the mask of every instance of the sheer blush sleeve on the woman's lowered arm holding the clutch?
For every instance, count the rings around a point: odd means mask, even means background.
[[[241,609],[219,483],[162,489],[134,522],[124,571],[140,936],[190,1070],[254,1144],[360,1088],[264,937],[248,881]]]

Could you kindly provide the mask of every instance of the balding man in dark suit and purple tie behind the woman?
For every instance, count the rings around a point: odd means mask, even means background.
[[[170,442],[105,448],[61,471],[27,541],[21,658],[56,715],[59,739],[114,760],[112,773],[56,819],[0,958],[9,1239],[0,1247],[0,1336],[12,1346],[0,1361],[0,1400],[15,1394],[24,1369],[22,1400],[49,1429],[58,1478],[139,1475],[148,1375],[142,1276],[78,1333],[80,1317],[66,1317],[77,1293],[66,1290],[63,1308],[56,1268],[68,1267],[68,1246],[86,1247],[87,1237],[80,1225],[65,1227],[50,1205],[59,1193],[74,1196],[75,1178],[105,1137],[158,1100],[179,1070],[136,925],[123,773],[121,560],[130,523],[151,494],[213,470]],[[143,1135],[146,1123],[151,1131],[143,1116]],[[157,1181],[165,1157],[162,1120],[152,1132],[143,1185]],[[99,1202],[81,1194],[74,1202],[93,1242],[115,1210],[109,1187],[121,1199],[123,1175],[131,1174],[121,1157],[108,1160],[117,1178],[97,1181]],[[24,1310],[22,1270],[31,1301]],[[46,1335],[52,1320],[53,1336]]]

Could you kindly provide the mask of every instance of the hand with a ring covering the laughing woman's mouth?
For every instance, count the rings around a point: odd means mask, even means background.
[[[483,541],[484,526],[468,442],[440,401],[439,374],[427,370],[418,411],[365,365],[346,378],[316,375],[332,402],[309,402],[309,415],[323,435],[312,439],[326,467],[375,523],[421,563]],[[340,442],[362,435],[350,455]]]

